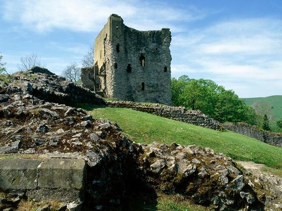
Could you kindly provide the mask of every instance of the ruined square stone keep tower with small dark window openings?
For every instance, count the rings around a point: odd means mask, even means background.
[[[112,14],[95,39],[94,68],[82,70],[87,88],[109,98],[171,104],[171,33],[137,31]]]

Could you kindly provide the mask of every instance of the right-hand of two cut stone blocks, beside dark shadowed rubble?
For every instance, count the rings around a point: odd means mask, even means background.
[[[38,188],[81,190],[85,169],[83,159],[47,158],[38,167]]]

